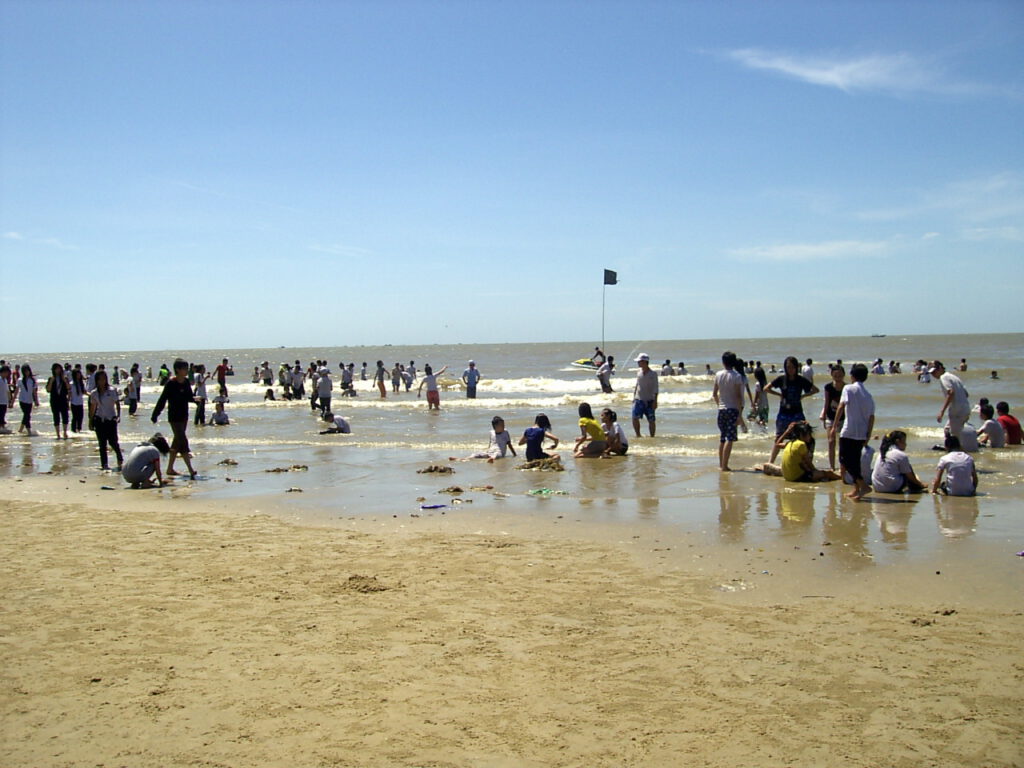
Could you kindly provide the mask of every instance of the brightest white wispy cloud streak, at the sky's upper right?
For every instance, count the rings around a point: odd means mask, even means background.
[[[726,55],[752,70],[783,75],[812,85],[838,88],[847,93],[882,91],[946,96],[998,93],[1021,95],[1019,88],[999,88],[959,80],[945,72],[937,60],[921,59],[909,53],[806,55],[740,48],[728,51]]]

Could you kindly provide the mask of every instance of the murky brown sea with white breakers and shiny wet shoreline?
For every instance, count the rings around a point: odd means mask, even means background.
[[[53,362],[101,362],[108,371],[138,364],[143,374],[152,371],[156,376],[161,365],[170,367],[177,357],[205,364],[208,371],[227,357],[234,371],[227,380],[230,425],[189,425],[188,429],[200,479],[178,478],[170,490],[126,493],[166,494],[187,486],[187,498],[230,499],[236,505],[248,500],[254,511],[314,524],[367,516],[471,516],[486,510],[510,516],[679,526],[733,543],[786,536],[818,542],[840,537],[842,529],[847,531],[843,537],[851,538],[846,546],[876,561],[934,552],[948,540],[976,537],[1024,549],[1024,513],[1020,511],[1024,453],[1019,446],[983,450],[976,456],[981,493],[974,499],[939,500],[926,495],[852,505],[844,502],[848,488],[840,483],[793,486],[753,471],[720,473],[713,379],[706,374],[707,366],[713,371],[721,367],[722,352],[727,349],[743,359],[760,360],[766,371],[772,367],[781,371],[783,358],[791,354],[801,361],[811,358],[819,388],[828,381],[829,362],[842,359],[849,371],[855,361],[870,365],[881,358],[888,366],[897,360],[902,375],[871,375],[867,381],[876,401],[876,433],[895,428],[906,431],[914,469],[929,481],[941,455],[933,445],[942,438],[942,425],[936,421],[942,395],[937,382],[919,382],[912,373],[914,361],[939,358],[954,370],[963,358],[968,369],[959,376],[972,402],[982,397],[992,403],[1007,400],[1012,413],[1024,415],[1024,334],[607,342],[605,352],[614,355],[618,366],[612,380],[614,391],[607,394],[601,392],[593,371],[571,365],[589,357],[594,346],[595,342],[552,342],[2,354],[10,364],[33,367],[40,381],[42,407],[34,417],[35,437],[17,435],[20,414],[16,406],[8,412],[8,426],[15,433],[0,436],[0,476],[100,472],[91,433],[68,441],[54,439],[42,390]],[[668,359],[674,368],[685,364],[687,373],[660,379],[656,436],[647,436],[643,425],[644,436],[637,439],[632,436],[630,412],[634,360],[640,353],[650,356],[655,371]],[[333,410],[350,422],[349,435],[319,434],[327,425],[312,412],[308,399],[281,399],[282,390],[275,384],[278,399],[266,400],[266,387],[252,381],[254,369],[264,360],[276,372],[283,362],[299,360],[305,369],[316,359],[327,360],[332,370]],[[372,376],[378,359],[388,371],[396,362],[415,360],[420,376],[427,364],[435,371],[447,366],[440,377],[446,385],[440,411],[428,411],[425,397],[417,396],[419,380],[411,391],[402,386],[399,392],[393,392],[388,381],[387,397],[381,398],[371,381],[358,378],[362,362]],[[466,397],[460,381],[470,359],[482,374],[475,399]],[[355,397],[340,396],[341,362],[355,364]],[[210,385],[211,397],[214,390]],[[169,433],[166,421],[158,426],[150,420],[158,394],[157,381],[147,378],[138,414],[129,417],[124,410],[120,436],[126,451],[157,429]],[[589,402],[595,414],[604,408],[617,413],[631,435],[628,456],[572,459],[581,402]],[[805,403],[805,412],[818,427],[815,463],[827,466],[826,440],[817,421],[820,395]],[[772,398],[768,430],[751,423],[750,431],[740,434],[732,454],[734,469],[767,461],[777,399]],[[212,406],[208,415],[211,412]],[[505,420],[515,442],[541,413],[551,419],[552,431],[561,439],[557,453],[564,471],[520,470],[521,451],[518,458],[494,464],[450,461],[486,446],[493,417]],[[977,416],[972,422],[980,423]],[[873,444],[878,446],[878,441]],[[421,472],[439,465],[452,467],[454,473]],[[184,469],[180,462],[178,468]],[[110,476],[111,483],[118,480]],[[462,493],[444,493],[453,486]],[[122,489],[122,484],[118,487]],[[863,517],[860,523],[822,531],[829,519],[842,518],[843,510],[851,506],[860,509],[856,513]]]

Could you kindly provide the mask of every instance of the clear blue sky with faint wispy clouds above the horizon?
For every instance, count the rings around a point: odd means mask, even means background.
[[[1020,332],[1024,3],[0,0],[0,267],[8,352]]]

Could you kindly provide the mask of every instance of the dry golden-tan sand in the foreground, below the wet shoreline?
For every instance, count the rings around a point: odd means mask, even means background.
[[[758,604],[586,537],[13,487],[3,766],[1024,765],[1016,586]]]

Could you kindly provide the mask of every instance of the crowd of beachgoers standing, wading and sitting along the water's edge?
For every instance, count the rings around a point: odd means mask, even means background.
[[[641,437],[641,427],[646,422],[648,435],[654,437],[659,378],[686,375],[686,369],[682,362],[674,368],[667,359],[660,372],[655,372],[650,367],[650,357],[646,353],[639,354],[635,362],[638,370],[631,409],[633,434],[636,438]],[[596,349],[594,364],[602,391],[611,391],[610,377],[614,372],[614,358],[610,355],[605,357],[600,349]],[[410,360],[408,366],[396,362],[390,373],[382,360],[377,360],[375,372],[371,372],[366,362],[358,372],[354,362],[341,362],[338,369],[338,388],[343,397],[356,396],[356,377],[360,381],[371,382],[381,398],[387,397],[385,382],[388,378],[392,393],[400,392],[402,387],[407,392],[412,391],[418,378],[414,360]],[[711,372],[710,366],[707,369]],[[425,388],[430,410],[440,408],[439,377],[446,370],[446,366],[436,372],[429,365],[424,367],[417,396],[421,397]],[[971,454],[981,445],[998,449],[1020,444],[1020,423],[1010,414],[1009,403],[1000,401],[993,407],[982,398],[976,410],[983,422],[976,429],[969,423],[972,408],[967,388],[955,373],[947,371],[941,360],[918,360],[913,370],[922,381],[926,380],[925,377],[929,381],[937,379],[942,392],[937,421],[945,425],[945,439],[936,449],[945,453],[938,464],[931,489],[954,496],[973,494],[977,487],[977,472]],[[967,370],[966,359],[961,359],[957,370]],[[152,370],[146,373],[152,378]],[[117,459],[116,468],[124,473],[129,482],[138,485],[151,482],[154,476],[158,483],[163,482],[163,473],[160,471],[162,456],[168,457],[167,475],[178,474],[175,463],[181,458],[189,475],[196,476],[187,438],[189,410],[195,409],[195,426],[207,425],[206,404],[210,399],[208,383],[212,379],[214,383],[209,386],[215,386],[216,395],[212,398],[214,413],[209,424],[229,424],[225,406],[229,402],[228,377],[233,376],[233,373],[226,357],[222,358],[213,373],[208,373],[203,365],[182,359],[175,360],[171,368],[162,366],[157,375],[161,392],[151,418],[154,423],[158,423],[166,409],[172,439],[168,442],[158,433],[143,445],[136,446],[128,461],[125,461],[120,446],[118,423],[122,402],[127,407],[129,415],[134,416],[141,401],[143,377],[137,364],[128,371],[114,367],[113,373],[109,374],[103,365],[90,362],[83,368],[81,365],[54,362],[42,389],[48,396],[57,439],[68,439],[69,430],[78,433],[88,428],[95,433],[101,468],[111,468],[109,454],[113,452]],[[905,453],[905,432],[894,430],[887,433],[882,438],[877,459],[868,444],[874,427],[874,400],[866,386],[868,375],[899,374],[901,369],[898,361],[891,360],[885,367],[881,358],[876,359],[871,369],[864,364],[854,364],[850,368],[849,382],[842,360],[828,365],[829,380],[824,384],[818,414],[827,437],[828,469],[814,466],[814,430],[804,409],[806,398],[821,391],[814,383],[813,361],[810,358],[801,365],[796,356],[786,357],[781,373],[769,382],[767,373],[778,373],[774,366],[766,372],[760,361],[744,361],[727,351],[722,355],[722,369],[711,373],[714,376],[712,397],[718,412],[721,471],[731,471],[729,462],[733,444],[738,439],[739,430],[749,429],[743,416],[744,406],[750,404],[746,418],[762,428],[767,428],[770,397],[777,397],[775,440],[768,461],[758,465],[756,469],[793,482],[843,478],[853,486],[848,496],[855,501],[864,498],[872,489],[877,493],[921,493],[929,488],[910,466]],[[10,431],[6,425],[6,413],[8,407],[16,401],[22,410],[18,431],[33,434],[32,415],[33,410],[40,406],[41,387],[31,366],[11,367],[0,360],[0,430]],[[749,377],[755,380],[753,390]],[[475,361],[469,360],[462,375],[467,398],[476,397],[477,385],[481,379]],[[329,425],[321,433],[351,432],[348,421],[332,411],[335,382],[327,360],[315,360],[306,367],[299,360],[295,360],[294,365],[281,364],[276,373],[264,361],[261,367],[254,368],[252,381],[267,387],[264,399],[276,399],[273,388],[275,382],[281,387],[284,399],[304,398],[308,384],[310,409],[318,412],[323,421]],[[509,453],[515,456],[513,439],[505,429],[502,417],[495,417],[492,427],[487,446],[468,458],[495,461]],[[594,417],[590,403],[580,403],[579,427],[580,436],[572,450],[574,458],[624,456],[629,451],[626,432],[611,409],[602,410],[598,420]],[[545,441],[555,447],[559,438],[551,431],[550,419],[545,414],[539,414],[534,425],[525,430],[517,444],[526,446],[527,461],[557,458],[557,454],[544,451]],[[781,462],[776,465],[779,454]]]

